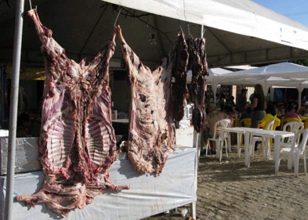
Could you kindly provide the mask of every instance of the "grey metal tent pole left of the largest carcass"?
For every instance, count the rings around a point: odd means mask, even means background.
[[[16,125],[17,125],[17,104],[20,71],[20,54],[23,25],[24,0],[16,1],[15,33],[12,64],[12,80],[10,95],[9,133],[8,133],[8,155],[7,155],[7,177],[5,190],[5,213],[4,219],[11,220],[14,197],[14,173],[15,173],[15,148],[16,148]]]

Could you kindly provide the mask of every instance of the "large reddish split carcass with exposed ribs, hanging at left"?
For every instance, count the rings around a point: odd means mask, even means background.
[[[45,55],[40,160],[45,173],[42,189],[32,196],[17,196],[27,205],[46,203],[66,216],[82,209],[105,190],[128,189],[109,178],[116,141],[111,123],[108,63],[115,50],[112,40],[86,66],[69,59],[43,26],[35,9],[34,21]]]

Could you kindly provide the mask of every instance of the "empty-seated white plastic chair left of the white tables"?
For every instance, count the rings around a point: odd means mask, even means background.
[[[227,144],[227,132],[223,132],[223,128],[227,128],[230,126],[231,120],[226,118],[219,120],[214,125],[214,135],[212,138],[208,138],[207,146],[206,146],[206,155],[208,153],[208,146],[210,145],[210,140],[216,142],[216,150],[217,150],[217,157],[219,157],[219,161],[222,161],[223,155],[223,147],[224,143],[226,145],[226,154],[228,157],[228,144]],[[217,129],[220,129],[220,134],[217,135]]]

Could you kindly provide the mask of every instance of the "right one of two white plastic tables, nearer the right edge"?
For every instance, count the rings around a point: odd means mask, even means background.
[[[279,170],[279,158],[280,158],[280,144],[281,144],[281,139],[285,137],[292,137],[294,136],[293,132],[289,131],[281,131],[281,130],[255,130],[251,132],[251,138],[253,136],[261,136],[261,137],[266,137],[266,138],[274,138],[274,144],[275,144],[275,173],[278,173]]]

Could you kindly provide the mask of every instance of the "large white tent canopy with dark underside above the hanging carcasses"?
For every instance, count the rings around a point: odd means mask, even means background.
[[[12,59],[15,1],[10,4],[8,8],[0,1],[1,63]],[[32,0],[32,5],[38,6],[42,23],[76,61],[95,55],[110,38],[117,5],[122,6],[117,24],[126,41],[150,67],[170,50],[180,25],[186,37],[189,32],[199,36],[200,25],[205,25],[211,68],[308,57],[307,26],[250,0]],[[152,34],[155,45],[149,42]],[[40,42],[26,15],[22,40],[22,64],[43,66]],[[117,46],[111,66],[121,66],[121,61]]]

